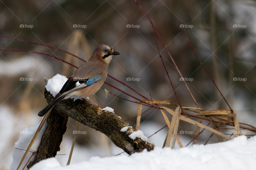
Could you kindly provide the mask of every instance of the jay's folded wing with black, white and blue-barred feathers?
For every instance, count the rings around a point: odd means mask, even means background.
[[[70,77],[61,88],[61,91],[55,96],[55,99],[96,83],[101,79],[101,76],[97,75],[96,77],[83,79]]]

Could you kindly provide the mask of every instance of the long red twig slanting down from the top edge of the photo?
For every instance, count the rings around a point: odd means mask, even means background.
[[[178,66],[176,65],[175,61],[173,60],[173,57],[171,57],[170,52],[167,50],[166,45],[165,45],[165,43],[163,42],[161,36],[159,35],[157,29],[155,28],[155,25],[153,24],[153,22],[151,21],[151,19],[150,19],[149,16],[147,15],[147,13],[143,10],[143,8],[139,5],[139,3],[138,3],[136,0],[134,0],[134,2],[138,5],[138,7],[141,9],[141,11],[144,13],[144,15],[147,17],[147,19],[148,19],[149,22],[151,23],[153,29],[155,30],[155,32],[157,33],[157,36],[159,37],[161,43],[163,44],[163,46],[164,46],[164,48],[165,48],[167,54],[168,54],[169,57],[171,58],[171,61],[173,62],[173,64],[174,64],[176,70],[178,71],[179,76],[180,76],[180,77],[183,77],[182,74],[181,74],[181,72],[179,71]],[[199,105],[198,105],[198,103],[197,103],[197,101],[195,100],[194,96],[192,95],[191,91],[189,90],[189,87],[187,86],[187,83],[185,82],[185,80],[183,80],[183,83],[185,84],[187,90],[189,91],[190,96],[192,97],[192,99],[193,99],[193,101],[195,102],[195,104],[197,105],[197,107],[200,108]]]

